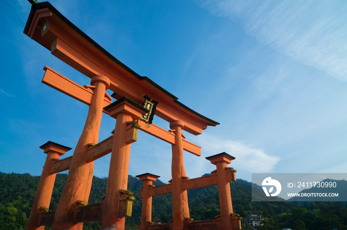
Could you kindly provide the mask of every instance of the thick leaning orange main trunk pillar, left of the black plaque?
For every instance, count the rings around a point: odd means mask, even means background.
[[[51,230],[81,230],[83,227],[83,223],[74,223],[74,214],[78,200],[88,202],[94,171],[94,162],[87,162],[88,144],[98,143],[105,90],[110,86],[110,80],[106,76],[95,75],[91,85],[95,86],[92,102],[71,159]]]

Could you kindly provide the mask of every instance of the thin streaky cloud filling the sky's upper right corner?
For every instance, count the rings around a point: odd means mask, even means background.
[[[204,0],[212,14],[282,54],[347,81],[346,1]]]

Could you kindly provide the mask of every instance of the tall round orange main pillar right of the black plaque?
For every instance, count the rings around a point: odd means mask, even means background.
[[[185,175],[183,163],[183,141],[182,128],[184,123],[181,120],[170,122],[170,128],[175,135],[175,144],[172,145],[172,186],[173,186],[173,230],[182,230],[184,218],[189,218],[187,191],[182,188],[182,179]]]

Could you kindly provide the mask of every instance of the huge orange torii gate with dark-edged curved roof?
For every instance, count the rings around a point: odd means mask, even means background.
[[[189,188],[183,187],[184,180],[188,178],[184,171],[183,150],[201,156],[201,147],[186,141],[181,130],[198,135],[207,126],[216,126],[219,123],[184,106],[149,78],[139,76],[85,35],[49,2],[32,5],[24,33],[50,50],[54,56],[91,78],[91,85],[82,87],[50,67],[44,67],[46,72],[43,83],[89,105],[89,111],[72,157],[58,160],[69,148],[57,143],[48,142],[42,147],[48,156],[26,229],[43,229],[45,225],[52,225],[52,230],[77,230],[82,229],[83,222],[102,220],[103,230],[123,230],[125,217],[131,215],[131,202],[127,201],[133,199],[131,192],[126,190],[130,145],[137,140],[137,130],[140,129],[172,144],[172,229],[182,230],[185,220],[190,220],[186,190],[194,188],[192,185]],[[114,103],[111,103],[112,98],[106,93],[108,88],[116,93],[114,97],[117,101]],[[149,126],[145,121],[139,120],[150,112],[141,106],[144,95],[160,103],[155,113],[170,122],[170,131],[155,124]],[[102,113],[116,118],[116,126],[112,136],[98,143]],[[112,155],[104,202],[86,205],[94,161],[110,152]],[[219,186],[220,181],[228,181],[229,185],[229,181],[234,180],[232,173],[235,171],[231,170],[230,175],[233,177],[230,178],[226,177],[225,172],[226,164],[232,160],[230,157],[213,157],[224,162],[222,168],[218,166],[219,163],[211,160],[217,165],[217,171],[219,168],[219,171],[223,171],[218,174]],[[55,162],[50,164],[52,159]],[[41,210],[47,209],[42,204],[49,206],[50,200],[44,197],[44,194],[49,193],[47,191],[51,191],[52,194],[54,185],[54,178],[43,178],[64,170],[69,170],[69,173],[57,210],[41,213]],[[216,181],[217,179],[213,179],[213,182],[205,182],[204,186],[216,184]],[[225,190],[228,193],[227,187]],[[226,207],[225,218],[222,215],[222,206]],[[239,229],[231,227],[230,214],[231,197],[229,203],[221,204],[221,218],[224,218],[222,228]],[[239,218],[231,216],[239,223]]]

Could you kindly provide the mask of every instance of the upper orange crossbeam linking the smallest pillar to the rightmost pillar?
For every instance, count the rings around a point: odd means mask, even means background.
[[[227,180],[228,182],[235,181],[235,171],[230,170],[229,168],[227,170]],[[187,179],[182,181],[182,188],[183,190],[189,190],[194,188],[201,188],[201,187],[207,187],[211,185],[217,184],[217,173],[213,175],[208,176],[201,176],[193,179]],[[172,192],[172,184],[164,184],[157,187],[151,187],[149,189],[149,196],[159,196],[164,195]],[[142,190],[140,190],[140,198],[143,198],[142,196]]]

